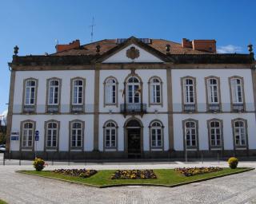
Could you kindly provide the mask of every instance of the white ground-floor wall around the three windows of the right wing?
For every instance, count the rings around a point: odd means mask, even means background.
[[[174,114],[174,149],[176,151],[183,150],[183,128],[182,120],[194,119],[198,120],[198,140],[199,150],[208,150],[208,130],[207,120],[217,118],[223,120],[223,139],[224,149],[233,150],[233,132],[231,120],[242,118],[247,120],[248,123],[248,139],[249,148],[256,149],[256,127],[254,113],[222,113],[222,114]]]

